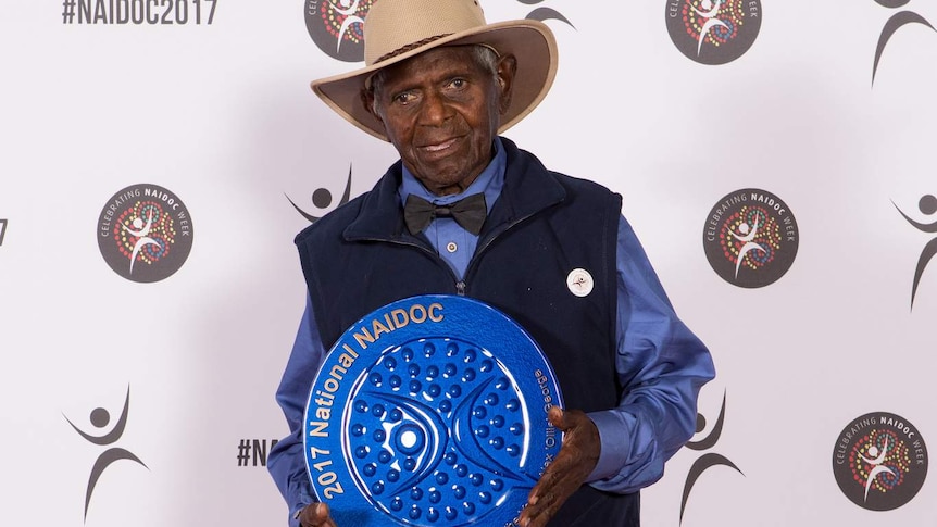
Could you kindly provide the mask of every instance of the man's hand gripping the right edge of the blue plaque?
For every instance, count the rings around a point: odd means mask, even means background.
[[[566,499],[585,482],[599,462],[602,443],[599,429],[578,410],[550,409],[550,423],[563,430],[563,446],[530,490],[527,506],[521,512],[522,527],[544,527]]]

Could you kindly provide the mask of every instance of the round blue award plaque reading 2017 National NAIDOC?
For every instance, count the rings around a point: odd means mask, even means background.
[[[350,327],[309,396],[309,478],[341,527],[514,525],[562,432],[537,343],[476,300],[421,296]]]

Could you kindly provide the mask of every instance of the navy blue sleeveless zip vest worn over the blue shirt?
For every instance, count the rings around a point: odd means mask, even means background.
[[[460,281],[422,236],[403,224],[398,162],[370,192],[296,238],[323,344],[392,301],[460,293],[486,302],[524,327],[555,371],[565,406],[584,412],[617,405],[615,242],[621,197],[547,171],[503,139],[504,188]],[[566,276],[588,271],[592,292],[574,296]],[[638,495],[584,486],[551,526],[637,526]]]

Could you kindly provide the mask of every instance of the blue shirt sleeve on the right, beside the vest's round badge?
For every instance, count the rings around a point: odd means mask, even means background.
[[[616,369],[619,406],[594,412],[602,442],[589,484],[633,492],[663,476],[669,460],[696,431],[697,397],[715,376],[705,346],[671,305],[632,226],[617,238]]]

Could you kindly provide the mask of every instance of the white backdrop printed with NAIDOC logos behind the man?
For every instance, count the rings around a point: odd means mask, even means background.
[[[0,523],[284,525],[292,237],[395,160],[308,87],[371,3],[0,4]],[[937,4],[485,9],[561,50],[508,136],[624,196],[715,359],[645,525],[937,525]]]

